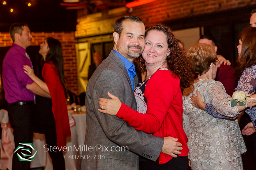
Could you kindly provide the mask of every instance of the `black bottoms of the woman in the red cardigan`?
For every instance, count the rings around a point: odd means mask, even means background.
[[[188,157],[178,156],[163,164],[159,164],[158,159],[156,162],[143,160],[140,161],[140,170],[188,170]]]

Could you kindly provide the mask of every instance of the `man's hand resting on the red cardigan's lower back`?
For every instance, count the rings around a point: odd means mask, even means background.
[[[181,147],[182,144],[180,142],[176,142],[178,139],[173,137],[164,137],[163,139],[165,139],[165,142],[163,143],[162,153],[177,158],[178,156],[176,154],[180,155],[180,150],[183,149]]]

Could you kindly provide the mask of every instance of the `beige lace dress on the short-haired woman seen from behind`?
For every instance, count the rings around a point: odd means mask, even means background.
[[[241,154],[246,151],[237,119],[214,118],[192,106],[191,94],[199,90],[205,103],[211,103],[219,114],[233,117],[237,107],[220,82],[201,79],[183,92],[183,127],[188,136],[188,158],[192,170],[242,170]]]

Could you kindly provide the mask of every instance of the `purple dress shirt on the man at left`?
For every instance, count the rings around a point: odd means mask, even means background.
[[[4,57],[3,84],[5,99],[8,103],[34,100],[34,93],[26,88],[27,84],[32,84],[34,81],[23,69],[25,65],[31,67],[30,58],[27,58],[25,53],[24,48],[13,43]]]

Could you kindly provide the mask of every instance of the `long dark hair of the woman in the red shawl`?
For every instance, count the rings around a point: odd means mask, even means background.
[[[65,97],[68,98],[67,88],[65,85],[65,75],[64,75],[64,68],[63,68],[63,55],[62,55],[61,43],[59,40],[56,40],[52,37],[46,38],[46,41],[49,46],[49,51],[46,54],[45,63],[52,61],[54,65],[57,67],[60,81],[64,88]]]

